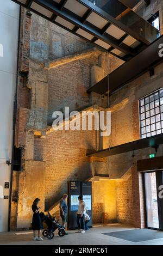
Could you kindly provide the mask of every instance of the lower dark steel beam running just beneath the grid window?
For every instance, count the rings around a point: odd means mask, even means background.
[[[100,150],[95,153],[87,154],[87,156],[108,157],[108,156],[118,155],[122,153],[127,153],[129,151],[149,148],[149,147],[155,148],[160,144],[163,144],[162,134],[145,138],[145,139],[139,139],[137,141],[118,145],[116,147]]]

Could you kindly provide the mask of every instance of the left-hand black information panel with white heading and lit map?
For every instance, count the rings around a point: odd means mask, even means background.
[[[78,196],[81,193],[81,182],[68,182],[68,229],[77,229]]]

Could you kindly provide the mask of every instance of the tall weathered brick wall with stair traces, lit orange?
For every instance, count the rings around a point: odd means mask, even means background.
[[[152,2],[150,8],[153,12],[159,9],[162,19],[162,3]],[[142,4],[136,11],[147,17],[151,9]],[[144,227],[142,175],[137,172],[136,162],[154,149],[103,160],[89,158],[86,153],[140,138],[138,100],[162,86],[163,65],[155,68],[153,77],[147,72],[111,95],[110,108],[116,110],[112,112],[109,138],[102,141],[95,131],[46,133],[55,110],[64,112],[64,107],[70,106],[74,111],[95,103],[108,107],[107,96],[88,95],[86,91],[123,62],[93,50],[94,45],[42,17],[33,14],[29,18],[23,9],[21,31],[19,70],[29,72],[29,77],[24,81],[18,76],[15,145],[24,148],[24,166],[23,172],[14,172],[13,176],[12,192],[18,191],[18,203],[12,203],[12,229],[30,227],[34,197],[41,198],[45,211],[56,208],[58,214],[58,201],[67,191],[67,181],[90,179],[94,223],[118,221]],[[49,68],[54,62],[60,65]],[[162,147],[157,155],[162,155]],[[96,181],[99,174],[109,175],[110,180]]]

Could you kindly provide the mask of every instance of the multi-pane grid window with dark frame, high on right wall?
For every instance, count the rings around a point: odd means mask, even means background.
[[[163,133],[163,88],[141,98],[139,108],[141,138]]]

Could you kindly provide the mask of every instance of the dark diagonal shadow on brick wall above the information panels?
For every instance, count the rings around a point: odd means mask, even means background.
[[[78,168],[72,170],[70,175],[67,176],[66,180],[62,180],[60,187],[53,192],[50,198],[45,199],[45,211],[52,210],[62,197],[62,194],[67,193],[67,182],[68,181],[87,181],[92,178],[92,169],[90,162],[80,165]],[[56,179],[57,182],[57,179]]]

